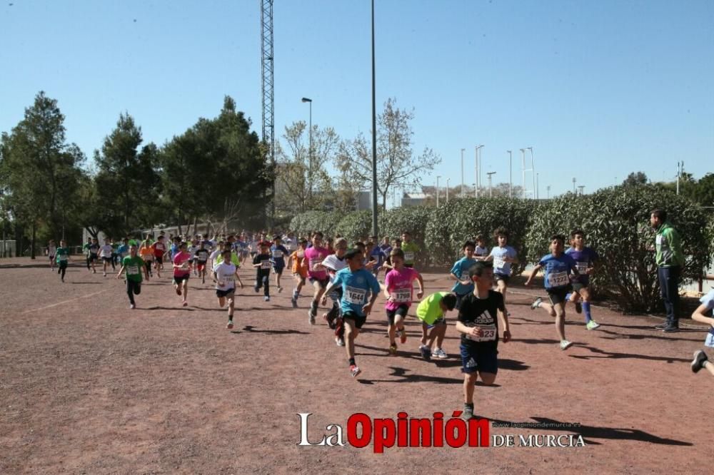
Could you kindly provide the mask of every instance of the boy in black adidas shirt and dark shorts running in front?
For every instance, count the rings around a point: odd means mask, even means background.
[[[491,262],[476,262],[468,271],[474,284],[471,294],[461,300],[456,330],[461,332],[461,372],[463,372],[464,419],[473,417],[473,387],[478,376],[483,384],[493,384],[498,373],[498,319],[503,326],[503,342],[511,339],[503,294],[491,290]]]

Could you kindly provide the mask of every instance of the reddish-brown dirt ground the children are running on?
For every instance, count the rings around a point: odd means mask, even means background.
[[[40,262],[0,268],[0,473],[693,473],[708,471],[714,379],[689,362],[705,329],[651,330],[653,317],[595,309],[588,332],[568,307],[561,352],[552,320],[509,297],[514,341],[501,343],[494,387],[476,387],[476,413],[500,422],[580,424],[569,429],[494,427],[493,434],[574,434],[586,446],[398,448],[298,446],[298,412],[309,439],[353,413],[446,419],[462,407],[458,337],[449,358],[417,356],[408,342],[388,354],[383,298],[357,341],[358,379],[308,298],[293,310],[289,288],[273,300],[250,287],[225,329],[210,285],[190,281],[182,308],[169,279],[149,282],[129,310],[120,280],[70,267],[67,282]],[[44,261],[41,261],[44,264]],[[448,288],[425,275],[428,292]],[[275,291],[274,287],[271,291]],[[453,325],[456,315],[450,315]],[[683,325],[684,327],[684,325]]]

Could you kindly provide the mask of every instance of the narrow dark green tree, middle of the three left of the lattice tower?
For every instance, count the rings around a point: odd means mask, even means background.
[[[106,210],[101,223],[94,224],[107,235],[126,235],[149,224],[151,210],[156,209],[156,145],[150,143],[140,152],[142,141],[134,118],[122,113],[114,131],[104,138],[101,152],[94,151],[96,198]]]

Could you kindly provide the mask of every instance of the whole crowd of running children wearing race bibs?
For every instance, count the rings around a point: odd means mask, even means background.
[[[281,292],[281,277],[288,267],[295,281],[291,295],[294,308],[298,307],[298,298],[306,283],[310,282],[313,286],[308,310],[310,325],[316,323],[318,307],[326,305],[328,298],[331,300],[330,310],[322,317],[334,331],[336,344],[346,347],[349,372],[353,377],[361,373],[355,359],[354,342],[380,293],[386,299],[390,354],[397,354],[396,339],[400,344],[406,344],[404,324],[414,301],[413,287],[416,282],[416,299],[421,300],[416,308],[416,317],[421,321],[419,351],[423,359],[448,357],[442,347],[446,314],[455,309],[458,311],[455,327],[461,334],[463,417],[469,418],[473,415],[473,390],[477,379],[480,377],[483,384],[493,384],[496,380],[499,327],[503,342],[511,339],[506,294],[511,266],[518,263],[518,253],[508,245],[508,230],[505,228],[496,230],[495,240],[497,245],[490,252],[483,236],[466,240],[461,247],[463,257],[454,263],[449,273],[449,277],[456,281],[451,291],[436,292],[426,297],[422,277],[414,269],[420,249],[409,233],[403,233],[401,239],[391,242],[384,238],[381,245],[376,237],[371,237],[367,243],[356,242],[351,247],[343,237],[326,243],[323,234],[315,232],[309,241],[288,237],[284,240],[285,244],[281,236],[268,241],[265,235],[248,244],[246,236],[240,235],[237,239],[231,236],[226,240],[206,240],[201,236],[196,236],[191,242],[174,239],[169,246],[165,236],[159,236],[156,242],[149,236],[140,245],[125,239],[117,247],[112,247],[109,240],[99,246],[94,239],[85,248],[86,265],[92,272],[96,272],[94,263],[101,259],[106,275],[108,265],[114,267],[115,259],[119,259],[121,268],[116,278],[125,275],[131,309],[136,308],[134,295],[141,292],[142,277],[149,280],[153,272],[161,277],[165,255],[171,255],[174,290],[181,296],[183,306],[188,305],[188,278],[191,272],[200,277],[202,283],[206,282],[208,274],[215,284],[218,305],[227,309],[228,329],[233,329],[234,325],[236,285],[243,288],[238,275],[241,264],[252,262],[256,272],[253,290],[260,292],[262,289],[266,302],[270,301],[271,270],[276,277],[278,292]],[[553,235],[550,252],[540,259],[526,280],[526,286],[532,285],[535,276],[543,270],[548,302],[538,297],[531,308],[541,308],[555,317],[555,330],[563,350],[572,345],[565,338],[566,302],[573,302],[576,312],[584,314],[588,330],[600,326],[592,318],[588,292],[589,276],[595,272],[598,255],[585,246],[585,234],[580,230],[571,233],[570,247],[567,251],[564,248],[565,237]],[[64,282],[69,250],[61,241],[59,247],[50,247],[49,251],[51,266],[54,269],[54,262],[58,264],[58,272]],[[248,255],[251,255],[251,260]],[[381,270],[386,272],[383,282],[378,281]],[[695,312],[695,315],[701,315],[695,316],[695,320],[714,325],[714,319],[705,316],[712,307],[714,290],[702,299],[702,305]],[[714,347],[714,329],[708,334],[706,345]],[[706,354],[697,352],[692,369],[698,372],[701,368],[714,375],[714,365],[708,362]]]

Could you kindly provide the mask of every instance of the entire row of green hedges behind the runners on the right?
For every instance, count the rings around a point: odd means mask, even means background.
[[[381,236],[397,237],[408,231],[422,252],[418,265],[450,266],[461,257],[466,239],[481,234],[488,246],[496,245],[494,231],[503,226],[510,233],[509,245],[518,250],[516,274],[548,253],[550,236],[585,232],[588,245],[601,257],[593,287],[618,302],[624,311],[652,312],[660,308],[654,266],[654,231],[650,211],[667,210],[680,233],[688,255],[683,277],[693,280],[711,262],[714,232],[711,213],[696,203],[656,185],[614,187],[585,196],[564,195],[535,202],[510,198],[465,198],[450,200],[441,208],[394,208],[379,216]],[[371,211],[323,213],[311,211],[291,222],[296,233],[322,230],[354,242],[371,234]]]

